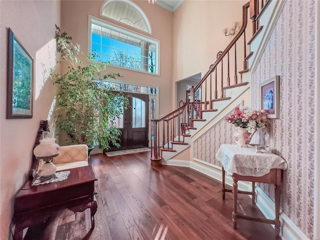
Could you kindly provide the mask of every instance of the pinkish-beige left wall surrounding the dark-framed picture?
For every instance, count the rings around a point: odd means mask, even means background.
[[[54,24],[59,1],[0,1],[0,239],[8,239],[13,198],[26,179],[40,119],[47,119],[54,88],[47,79],[55,62]],[[34,59],[33,117],[6,119],[7,27]]]

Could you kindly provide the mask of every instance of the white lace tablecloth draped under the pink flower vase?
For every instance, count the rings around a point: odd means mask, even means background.
[[[243,176],[263,176],[271,168],[287,169],[286,161],[269,151],[254,152],[254,147],[238,147],[222,144],[215,157],[222,163],[227,174],[232,172]]]

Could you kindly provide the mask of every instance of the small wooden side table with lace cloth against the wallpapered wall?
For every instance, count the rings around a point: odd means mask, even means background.
[[[233,192],[233,212],[232,222],[233,228],[236,228],[236,220],[246,219],[259,222],[274,224],[276,234],[280,232],[280,185],[281,185],[281,169],[287,169],[286,162],[278,155],[263,150],[263,153],[254,152],[254,147],[238,147],[233,144],[222,144],[215,157],[222,163],[222,199],[225,192]],[[226,189],[225,171],[232,175],[233,189]],[[237,181],[251,181],[252,191],[241,191],[237,189]],[[252,203],[255,204],[255,182],[270,183],[275,185],[275,218],[263,219],[237,213],[237,193],[252,195]]]

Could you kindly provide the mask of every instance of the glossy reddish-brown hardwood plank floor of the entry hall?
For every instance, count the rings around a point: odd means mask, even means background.
[[[107,157],[91,155],[96,182],[95,227],[89,210],[53,215],[29,229],[25,239],[211,240],[278,239],[271,225],[238,220],[232,228],[232,194],[221,197],[221,183],[187,167],[150,167],[149,152]],[[247,195],[239,211],[263,217]]]

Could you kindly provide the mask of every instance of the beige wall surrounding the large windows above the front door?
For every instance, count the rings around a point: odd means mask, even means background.
[[[99,16],[101,1],[62,1],[61,30],[72,36],[73,43],[78,43],[84,54],[87,54],[88,45],[88,15],[98,17],[108,22],[118,24],[128,29],[127,25]],[[160,75],[152,75],[138,71],[127,70],[119,67],[108,66],[108,71],[121,73],[124,77],[119,80],[131,81],[159,86],[159,115],[169,113],[172,103],[172,12],[156,5],[149,4],[146,0],[135,1],[148,17],[152,34],[143,32],[144,35],[160,41]],[[142,33],[142,32],[141,32]],[[83,62],[85,59],[83,58]]]

